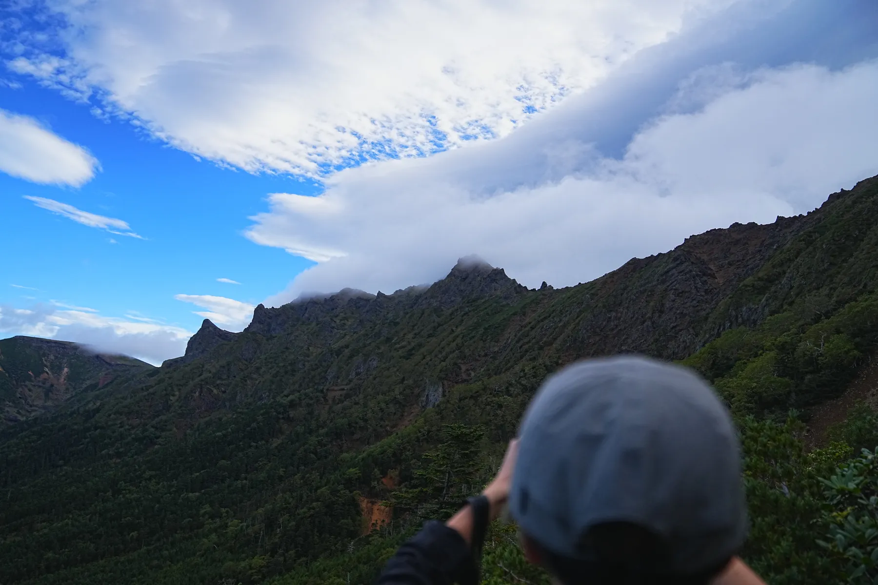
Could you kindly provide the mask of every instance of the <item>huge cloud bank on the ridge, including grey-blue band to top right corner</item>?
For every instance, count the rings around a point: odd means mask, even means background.
[[[811,210],[878,173],[876,21],[853,0],[736,4],[505,139],[270,195],[248,238],[318,263],[269,303],[433,282],[469,253],[565,286]]]

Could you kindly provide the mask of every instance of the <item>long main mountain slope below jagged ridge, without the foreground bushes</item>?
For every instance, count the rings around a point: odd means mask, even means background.
[[[0,432],[0,582],[307,574],[361,542],[361,504],[414,485],[447,424],[481,429],[495,467],[543,377],[585,356],[685,358],[741,416],[827,400],[878,335],[875,217],[873,178],[576,287],[469,259],[426,289],[260,305],[241,333],[205,321],[184,358]],[[808,353],[821,335],[847,340]]]

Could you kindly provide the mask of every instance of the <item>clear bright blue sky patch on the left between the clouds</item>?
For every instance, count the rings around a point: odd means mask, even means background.
[[[22,80],[0,88],[7,111],[37,118],[53,132],[87,146],[100,170],[80,188],[40,185],[0,175],[6,254],[0,301],[50,299],[123,315],[136,311],[191,327],[180,293],[234,296],[259,303],[312,262],[241,237],[266,193],[316,193],[313,181],[253,175],[198,161],[124,121],[104,122],[83,104]],[[24,196],[47,197],[122,218],[144,239],[78,224],[42,210]],[[115,243],[112,243],[115,242]],[[227,278],[240,285],[217,282]],[[39,289],[15,289],[10,284]]]

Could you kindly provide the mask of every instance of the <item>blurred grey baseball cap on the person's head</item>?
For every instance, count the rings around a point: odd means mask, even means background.
[[[509,511],[552,553],[587,558],[597,524],[662,537],[680,573],[711,567],[746,535],[738,433],[709,384],[640,356],[551,375],[522,419]]]

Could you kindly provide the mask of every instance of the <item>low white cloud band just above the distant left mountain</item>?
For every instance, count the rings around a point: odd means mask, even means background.
[[[130,355],[160,365],[183,355],[192,333],[183,328],[103,317],[90,310],[0,306],[0,333],[75,341],[98,352]]]

